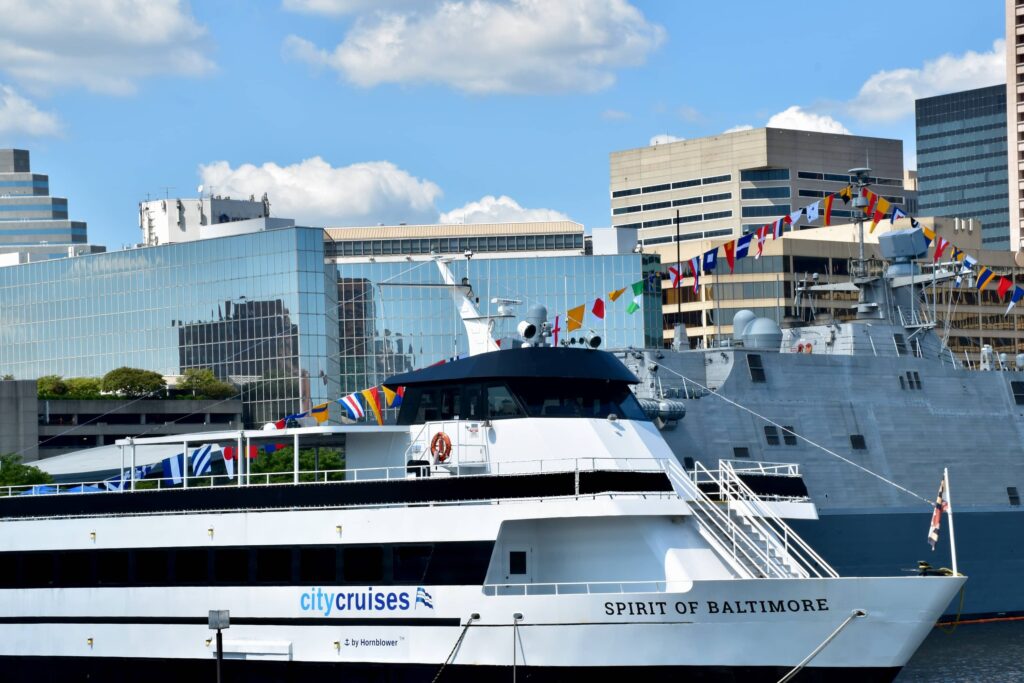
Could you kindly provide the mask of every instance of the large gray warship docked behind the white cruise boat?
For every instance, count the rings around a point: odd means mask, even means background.
[[[677,341],[618,355],[641,379],[645,408],[660,403],[656,420],[685,467],[799,464],[820,520],[797,526],[841,571],[950,566],[945,525],[934,552],[927,543],[948,467],[959,570],[971,581],[947,611],[1024,613],[1024,373],[990,349],[974,369],[946,348],[923,286],[955,272],[922,272],[920,228],[880,245],[884,271],[855,260],[849,284],[805,284],[803,321],[739,311],[717,347]],[[814,316],[809,297],[829,289],[859,291],[852,319]]]

